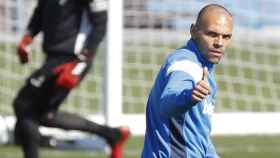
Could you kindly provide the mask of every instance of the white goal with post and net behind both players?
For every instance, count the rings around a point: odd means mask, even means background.
[[[111,0],[107,39],[92,72],[63,110],[98,116],[93,119],[101,123],[128,125],[142,135],[147,97],[164,58],[186,43],[197,12],[212,2],[228,8],[235,23],[232,45],[216,66],[214,134],[280,133],[275,126],[280,121],[277,0]],[[34,4],[34,0],[0,2],[0,115],[13,115],[13,98],[43,59],[40,38],[32,46],[29,65],[21,66],[15,53]]]

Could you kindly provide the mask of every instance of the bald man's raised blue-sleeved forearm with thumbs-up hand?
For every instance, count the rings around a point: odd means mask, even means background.
[[[189,71],[191,68],[186,67],[185,71],[173,71],[169,74],[160,98],[162,116],[170,117],[185,113],[210,94],[207,68],[202,70],[193,67],[192,69],[196,71]]]

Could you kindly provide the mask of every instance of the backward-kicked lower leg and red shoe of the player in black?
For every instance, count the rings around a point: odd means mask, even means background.
[[[111,147],[111,158],[122,157],[122,145],[129,137],[127,128],[111,128],[66,112],[48,112],[41,124],[65,130],[80,130],[103,137]]]

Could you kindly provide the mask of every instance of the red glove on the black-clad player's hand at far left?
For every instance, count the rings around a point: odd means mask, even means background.
[[[25,34],[18,45],[17,55],[21,64],[28,62],[28,51],[26,50],[26,47],[31,43],[32,37],[28,34]]]

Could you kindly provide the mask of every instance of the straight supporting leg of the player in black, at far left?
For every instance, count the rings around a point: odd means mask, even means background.
[[[30,84],[31,78],[19,91],[13,103],[17,117],[14,134],[16,143],[22,147],[24,157],[38,158],[40,134],[38,123],[35,121],[37,114],[34,103],[37,102],[37,98],[40,98],[40,90]]]

